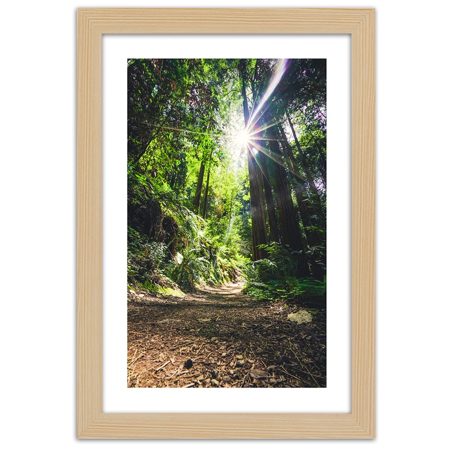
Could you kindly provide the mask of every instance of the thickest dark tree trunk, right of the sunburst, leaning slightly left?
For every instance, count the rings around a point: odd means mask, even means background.
[[[265,123],[271,123],[271,117],[268,111],[265,112]],[[274,132],[273,127],[267,128],[267,138],[271,153],[275,158],[282,160],[279,142],[276,140],[276,133]],[[279,208],[281,220],[282,242],[284,245],[288,246],[291,251],[301,251],[298,255],[298,274],[299,276],[308,276],[310,271],[304,251],[305,245],[302,241],[298,220],[296,220],[285,168],[282,167],[282,165],[275,163],[274,176],[274,189],[276,191],[277,206]]]

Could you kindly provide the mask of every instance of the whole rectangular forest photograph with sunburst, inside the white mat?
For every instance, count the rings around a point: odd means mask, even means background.
[[[128,59],[128,387],[326,387],[326,59]]]

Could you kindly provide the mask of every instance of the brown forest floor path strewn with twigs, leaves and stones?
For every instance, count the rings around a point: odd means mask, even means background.
[[[301,310],[312,321],[287,318]],[[128,387],[326,387],[326,310],[255,301],[241,283],[129,293]]]

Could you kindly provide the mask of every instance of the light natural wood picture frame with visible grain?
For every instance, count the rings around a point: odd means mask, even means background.
[[[374,29],[374,9],[78,9],[79,438],[374,438]],[[352,36],[351,413],[103,413],[102,35],[305,33]]]

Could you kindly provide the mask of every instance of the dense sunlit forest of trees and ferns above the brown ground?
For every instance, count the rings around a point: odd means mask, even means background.
[[[130,59],[127,104],[128,296],[324,311],[326,60]]]

